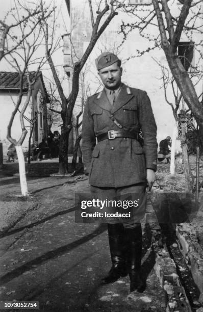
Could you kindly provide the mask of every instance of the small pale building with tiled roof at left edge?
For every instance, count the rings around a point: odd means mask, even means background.
[[[35,72],[30,73],[31,76]],[[7,140],[7,127],[17,103],[20,90],[20,75],[18,72],[0,72],[0,99],[1,99],[1,114],[0,114],[0,140],[3,143],[4,157],[7,154],[8,146],[11,144]],[[22,109],[28,94],[27,77],[23,77],[23,95],[19,111]],[[46,120],[46,103],[49,102],[48,94],[43,81],[42,73],[37,74],[36,81],[33,85],[32,96],[24,114],[24,125],[28,131],[26,139],[22,144],[23,150],[28,150],[28,141],[33,127],[32,141],[40,143],[42,138],[47,136],[47,120]],[[11,136],[16,141],[22,133],[20,124],[20,113],[17,112],[14,118]]]

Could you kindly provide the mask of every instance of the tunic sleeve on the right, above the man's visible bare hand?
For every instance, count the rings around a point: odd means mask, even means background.
[[[139,101],[139,122],[144,138],[146,168],[157,170],[157,125],[150,99],[144,91]]]

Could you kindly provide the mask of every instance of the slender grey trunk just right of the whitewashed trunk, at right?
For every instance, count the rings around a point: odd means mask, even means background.
[[[185,180],[186,180],[186,193],[191,193],[191,183],[190,183],[190,167],[189,167],[189,160],[188,160],[188,147],[186,144],[186,122],[181,123],[182,126],[182,149],[183,149],[183,163],[184,163],[184,173],[185,173]]]

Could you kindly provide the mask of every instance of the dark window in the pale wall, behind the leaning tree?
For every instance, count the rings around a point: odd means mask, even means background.
[[[177,46],[177,54],[183,64],[183,67],[188,71],[190,66],[194,65],[194,42],[182,41]]]

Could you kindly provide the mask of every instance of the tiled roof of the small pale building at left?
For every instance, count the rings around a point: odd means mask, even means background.
[[[30,72],[31,80],[34,77],[35,72]],[[48,94],[44,85],[43,76],[41,71],[38,73],[38,77],[41,77],[42,85],[44,88],[44,93],[46,95],[46,100],[49,102]],[[0,90],[12,90],[12,89],[20,89],[20,74],[18,72],[7,72],[7,71],[0,71]],[[28,81],[27,76],[23,76],[23,91],[28,89]]]

